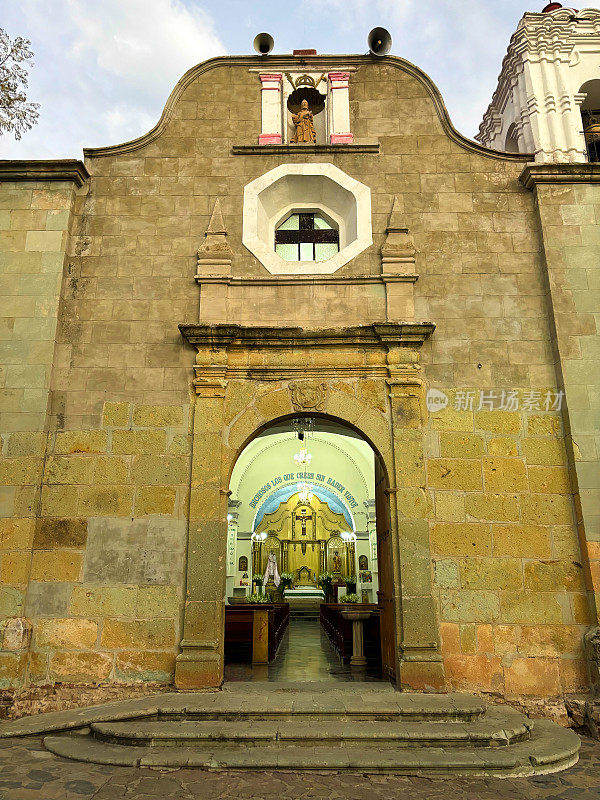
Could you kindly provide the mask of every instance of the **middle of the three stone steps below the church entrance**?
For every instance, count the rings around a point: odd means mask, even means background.
[[[396,747],[496,747],[529,737],[530,720],[513,709],[493,709],[474,723],[464,722],[375,722],[327,721],[177,721],[93,723],[92,735],[99,741],[125,746],[179,747],[196,743],[243,743],[260,747],[269,742],[296,746],[337,746],[361,742],[365,747],[394,744]]]

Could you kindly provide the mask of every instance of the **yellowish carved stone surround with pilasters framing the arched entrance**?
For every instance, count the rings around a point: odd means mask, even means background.
[[[223,680],[227,496],[233,466],[265,427],[298,412],[339,420],[373,448],[381,466],[387,525],[389,602],[400,686],[444,687],[429,556],[429,528],[418,504],[423,485],[423,385],[418,347],[425,324],[381,324],[306,331],[182,325],[197,350],[187,584],[180,688]],[[400,507],[402,506],[402,507]],[[401,522],[400,522],[401,521]],[[390,664],[390,667],[392,664]]]

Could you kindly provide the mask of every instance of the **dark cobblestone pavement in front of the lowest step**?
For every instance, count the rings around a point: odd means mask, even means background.
[[[0,741],[0,800],[598,800],[600,743],[583,740],[579,763],[519,780],[393,775],[202,772],[103,767],[46,752],[41,739]]]

